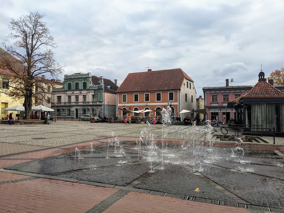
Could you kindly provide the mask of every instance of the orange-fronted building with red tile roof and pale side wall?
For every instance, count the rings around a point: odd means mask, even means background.
[[[182,109],[196,109],[196,90],[194,81],[181,69],[155,70],[129,73],[117,90],[117,117],[126,113],[119,109],[138,111],[143,109],[159,110],[170,106],[172,117],[180,117]],[[158,112],[132,113],[133,116],[159,116]],[[194,113],[185,116],[194,118]]]

